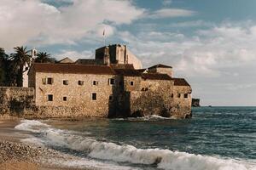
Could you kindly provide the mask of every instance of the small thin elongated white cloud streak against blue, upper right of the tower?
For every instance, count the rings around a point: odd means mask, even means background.
[[[150,19],[161,19],[161,18],[173,18],[173,17],[186,17],[196,14],[195,11],[186,10],[182,8],[161,8],[152,13],[145,15],[146,18]]]

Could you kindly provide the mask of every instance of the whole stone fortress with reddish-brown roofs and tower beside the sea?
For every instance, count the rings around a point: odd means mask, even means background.
[[[32,62],[26,73],[28,88],[22,92],[27,91],[31,100],[31,105],[23,108],[28,114],[191,117],[189,83],[173,77],[172,66],[159,64],[143,69],[125,45],[98,48],[95,59]]]

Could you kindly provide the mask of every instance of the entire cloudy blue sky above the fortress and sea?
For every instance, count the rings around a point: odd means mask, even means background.
[[[1,0],[0,47],[75,60],[93,58],[105,38],[145,68],[172,65],[201,105],[255,106],[255,8],[255,0]]]

